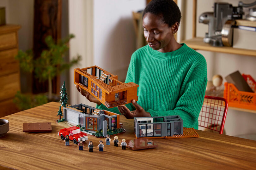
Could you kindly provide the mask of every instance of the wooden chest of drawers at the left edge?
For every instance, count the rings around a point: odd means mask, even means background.
[[[13,103],[21,90],[19,62],[14,59],[18,52],[19,25],[0,26],[0,117],[18,111]]]

